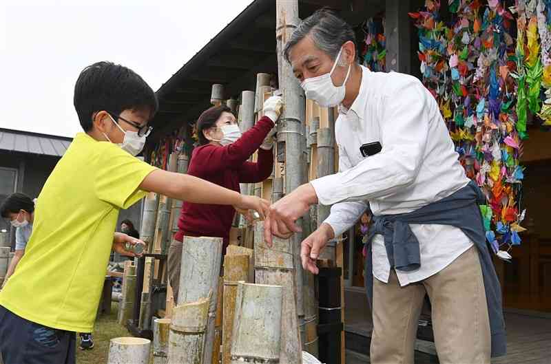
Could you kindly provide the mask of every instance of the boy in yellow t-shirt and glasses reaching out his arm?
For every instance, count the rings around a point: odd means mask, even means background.
[[[45,182],[32,235],[14,275],[0,292],[4,364],[72,364],[75,332],[91,332],[121,208],[148,191],[178,200],[258,211],[269,203],[216,184],[156,169],[135,158],[151,131],[156,95],[135,72],[99,62],[81,72],[74,107],[78,133]],[[132,242],[136,244],[135,239]]]

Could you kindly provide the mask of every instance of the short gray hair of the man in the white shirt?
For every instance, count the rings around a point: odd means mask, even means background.
[[[291,34],[291,39],[284,49],[284,56],[289,61],[289,52],[304,37],[310,35],[315,46],[329,54],[333,60],[337,58],[340,48],[347,41],[355,43],[354,30],[349,23],[337,17],[335,12],[323,8],[316,10],[310,17],[300,22]]]

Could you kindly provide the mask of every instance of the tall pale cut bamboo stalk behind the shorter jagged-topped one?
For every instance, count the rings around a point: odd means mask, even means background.
[[[218,299],[218,278],[222,258],[222,239],[219,237],[184,237],[182,265],[180,269],[180,291],[173,310],[176,316],[178,306],[198,302],[210,297],[208,326],[203,348],[203,363],[211,363],[214,346],[214,324]],[[173,318],[174,319],[174,318]],[[172,331],[171,331],[172,332]],[[187,348],[187,350],[195,350]]]

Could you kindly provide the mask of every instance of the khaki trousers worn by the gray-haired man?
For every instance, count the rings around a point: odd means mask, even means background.
[[[435,345],[441,364],[489,364],[490,323],[475,246],[424,281],[400,287],[373,279],[372,364],[413,364],[417,321],[425,295],[432,305]]]

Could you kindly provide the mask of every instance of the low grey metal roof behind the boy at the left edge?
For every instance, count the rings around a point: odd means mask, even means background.
[[[61,157],[72,138],[0,128],[0,150]]]

